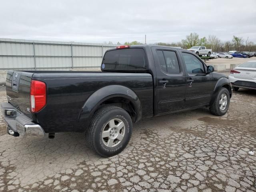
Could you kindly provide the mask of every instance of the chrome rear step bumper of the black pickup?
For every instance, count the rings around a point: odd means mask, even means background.
[[[4,121],[7,124],[7,132],[13,130],[13,136],[22,137],[44,137],[45,132],[43,128],[32,122],[32,119],[20,112],[10,103],[1,103]]]

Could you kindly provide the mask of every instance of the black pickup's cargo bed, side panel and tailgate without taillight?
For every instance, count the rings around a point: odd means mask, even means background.
[[[36,113],[30,111],[31,80],[46,84],[46,106]],[[96,90],[110,85],[133,90],[141,101],[142,116],[153,116],[153,80],[148,73],[8,71],[6,94],[8,102],[40,124],[44,132],[80,132],[87,126],[82,109],[86,100]]]

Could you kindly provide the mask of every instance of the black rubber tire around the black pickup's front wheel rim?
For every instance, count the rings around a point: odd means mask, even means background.
[[[224,108],[224,110],[220,109],[220,97],[222,94],[226,94],[227,96],[227,105],[226,105],[226,108]],[[216,98],[214,99],[213,104],[210,106],[210,112],[214,115],[222,116],[226,114],[226,112],[228,111],[229,103],[230,103],[230,94],[226,88],[222,87],[218,92]]]

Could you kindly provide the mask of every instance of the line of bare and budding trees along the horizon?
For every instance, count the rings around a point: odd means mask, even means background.
[[[209,35],[207,38],[200,38],[197,33],[190,33],[186,36],[185,39],[182,39],[181,42],[174,43],[164,43],[157,42],[154,45],[162,45],[162,46],[175,46],[181,47],[184,49],[191,48],[192,46],[206,46],[206,48],[211,48],[213,52],[228,52],[228,51],[256,51],[256,44],[254,42],[248,41],[249,38],[242,38],[238,36],[233,36],[230,41],[221,41],[215,35]],[[110,42],[112,44],[112,42]],[[117,44],[121,44],[118,42]],[[132,42],[124,42],[124,45],[140,45],[143,44],[138,41]]]

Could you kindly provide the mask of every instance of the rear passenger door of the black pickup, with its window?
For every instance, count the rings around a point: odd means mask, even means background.
[[[157,74],[158,114],[185,108],[186,77],[178,51],[152,47]]]

